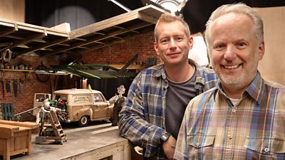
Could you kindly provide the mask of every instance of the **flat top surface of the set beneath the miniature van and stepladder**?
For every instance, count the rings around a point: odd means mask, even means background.
[[[118,127],[112,127],[110,122],[90,122],[87,127],[77,127],[76,124],[61,124],[61,126],[68,139],[63,145],[53,140],[45,144],[36,144],[35,139],[38,135],[33,134],[32,154],[11,156],[11,160],[73,159],[76,155],[95,151],[104,146],[120,146],[128,143],[127,139],[120,137]],[[3,156],[0,156],[0,159],[3,159]]]

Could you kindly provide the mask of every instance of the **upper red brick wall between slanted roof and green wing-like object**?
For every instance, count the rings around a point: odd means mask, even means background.
[[[138,53],[137,64],[144,67],[145,60],[149,57],[156,57],[153,48],[153,33],[142,33],[133,38],[128,38],[105,48],[90,50],[83,53],[82,63],[127,63]]]

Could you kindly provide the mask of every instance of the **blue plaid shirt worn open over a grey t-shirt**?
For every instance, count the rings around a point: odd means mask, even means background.
[[[190,60],[197,68],[197,94],[217,83],[214,71]],[[144,150],[145,159],[166,159],[160,146],[160,135],[165,131],[167,78],[164,65],[142,70],[133,80],[119,117],[120,135]]]

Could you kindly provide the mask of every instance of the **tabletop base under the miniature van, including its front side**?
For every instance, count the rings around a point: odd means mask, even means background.
[[[116,159],[130,159],[128,140],[120,137],[118,127],[111,127],[110,123],[88,127],[62,126],[68,139],[63,145],[53,140],[49,140],[49,144],[36,144],[37,134],[33,134],[31,155],[19,154],[11,156],[11,160],[101,159],[110,153]]]

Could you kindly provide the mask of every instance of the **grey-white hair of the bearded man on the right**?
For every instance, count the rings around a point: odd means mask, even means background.
[[[205,39],[207,46],[209,46],[209,29],[211,28],[212,23],[219,18],[220,16],[223,16],[225,14],[244,14],[246,16],[249,16],[249,18],[252,19],[252,22],[254,23],[254,32],[256,33],[257,38],[257,46],[264,41],[264,30],[263,30],[263,21],[261,16],[257,13],[257,11],[254,11],[251,7],[247,6],[243,3],[238,4],[225,4],[222,6],[219,6],[209,17],[209,20],[206,23],[206,30],[205,30]]]

